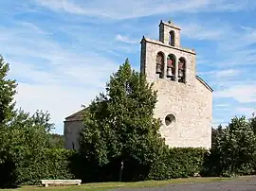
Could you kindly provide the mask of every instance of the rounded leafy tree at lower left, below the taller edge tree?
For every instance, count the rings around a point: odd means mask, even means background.
[[[1,175],[9,177],[5,183],[18,185],[32,179],[31,166],[38,163],[46,147],[45,127],[28,113],[17,111],[0,133],[0,164],[7,168],[1,170]]]

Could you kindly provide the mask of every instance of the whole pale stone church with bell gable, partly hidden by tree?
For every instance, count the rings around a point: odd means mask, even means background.
[[[159,40],[141,40],[140,72],[157,90],[155,117],[170,147],[210,148],[212,89],[196,76],[195,51],[181,47],[180,28],[160,22]],[[79,148],[82,111],[65,118],[65,148]]]

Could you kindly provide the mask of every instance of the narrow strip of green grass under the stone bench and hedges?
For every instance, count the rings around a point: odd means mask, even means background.
[[[237,178],[236,178],[237,179]],[[82,185],[68,185],[68,186],[22,186],[17,189],[0,189],[0,191],[82,191],[82,190],[108,190],[111,188],[140,188],[140,187],[159,187],[173,183],[185,182],[224,182],[234,180],[231,178],[187,178],[187,179],[173,179],[170,181],[146,181],[146,182],[102,182],[102,183],[84,183]]]

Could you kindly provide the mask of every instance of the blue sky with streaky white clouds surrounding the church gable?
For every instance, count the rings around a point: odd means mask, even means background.
[[[54,132],[88,105],[126,58],[139,69],[143,35],[181,27],[196,74],[213,92],[213,127],[256,112],[255,0],[1,0],[0,54],[18,83],[16,107],[48,111]]]

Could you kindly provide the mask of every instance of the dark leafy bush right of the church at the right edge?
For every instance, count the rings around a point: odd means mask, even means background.
[[[231,119],[226,129],[219,128],[208,158],[208,174],[248,175],[255,172],[256,136],[245,116]]]

